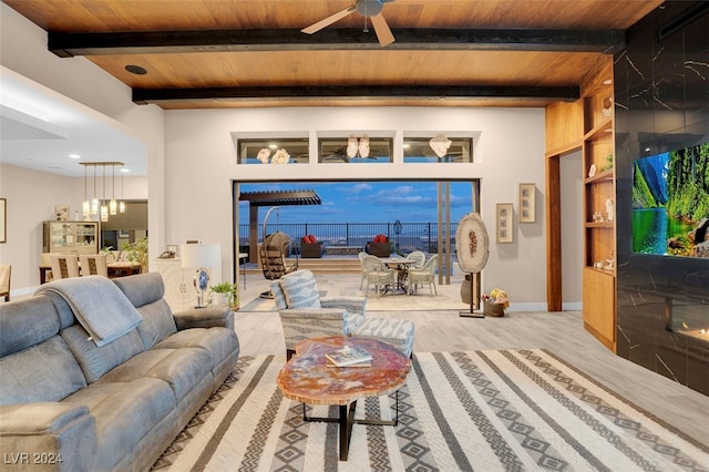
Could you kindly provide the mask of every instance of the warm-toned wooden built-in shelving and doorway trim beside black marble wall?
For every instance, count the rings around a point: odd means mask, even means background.
[[[602,55],[582,86],[580,100],[547,107],[546,216],[547,306],[552,311],[561,310],[562,305],[563,277],[561,259],[557,257],[561,253],[558,160],[580,150],[584,167],[584,327],[615,351],[616,173],[613,90],[613,58]]]

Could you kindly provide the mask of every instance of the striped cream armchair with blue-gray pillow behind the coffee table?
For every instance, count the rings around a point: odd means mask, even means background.
[[[320,297],[315,275],[296,270],[271,281],[290,358],[304,339],[350,336],[364,322],[364,297]]]

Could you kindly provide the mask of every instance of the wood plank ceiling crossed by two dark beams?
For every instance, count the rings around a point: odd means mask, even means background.
[[[394,0],[371,21],[354,0],[3,0],[165,110],[238,106],[545,106],[575,100],[600,54],[661,0]],[[369,0],[371,1],[371,0]],[[129,65],[143,68],[134,74]]]

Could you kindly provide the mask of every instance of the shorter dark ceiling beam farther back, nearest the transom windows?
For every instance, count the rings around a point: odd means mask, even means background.
[[[307,101],[321,100],[549,100],[574,102],[578,86],[465,86],[465,85],[333,85],[333,86],[243,86],[204,89],[133,89],[137,104],[225,101]]]

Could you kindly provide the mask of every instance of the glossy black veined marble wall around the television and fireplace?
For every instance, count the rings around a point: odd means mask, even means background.
[[[709,328],[709,260],[633,254],[630,223],[633,162],[709,142],[709,14],[660,39],[701,3],[664,3],[615,58],[617,353],[709,394],[709,340],[671,332],[666,319],[668,300],[693,300],[707,306]]]

